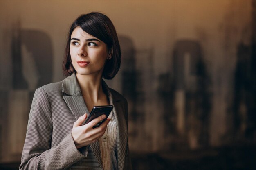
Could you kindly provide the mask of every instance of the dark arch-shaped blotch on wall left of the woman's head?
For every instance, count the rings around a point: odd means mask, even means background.
[[[33,57],[34,65],[38,72],[36,87],[41,87],[52,82],[53,51],[52,41],[46,33],[37,30],[23,30],[15,26],[12,38],[12,60],[13,60],[13,89],[28,89],[22,70],[22,45]],[[42,48],[43,47],[43,48]],[[29,62],[29,61],[25,61]],[[33,70],[31,70],[33,71]]]

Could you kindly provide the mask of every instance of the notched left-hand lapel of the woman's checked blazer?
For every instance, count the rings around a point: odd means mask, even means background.
[[[70,108],[70,111],[72,112],[76,120],[80,116],[83,116],[84,113],[87,114],[87,118],[88,118],[90,112],[88,111],[88,108],[85,105],[85,101],[83,99],[81,89],[76,80],[76,74],[72,74],[71,76],[65,78],[62,81],[62,92],[65,94],[63,96],[63,99],[67,103],[67,106]],[[85,121],[82,123],[82,125],[85,124]],[[99,141],[97,140],[96,142],[90,144],[90,148],[92,149],[96,159],[98,160],[99,165],[103,169],[103,163],[101,159],[101,150],[99,148]]]

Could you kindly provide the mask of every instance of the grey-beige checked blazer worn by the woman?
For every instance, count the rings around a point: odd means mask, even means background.
[[[128,148],[128,105],[118,92],[103,89],[117,118],[119,170],[132,169]],[[74,122],[89,114],[75,74],[36,89],[27,126],[20,170],[103,170],[99,141],[76,149],[71,131]]]

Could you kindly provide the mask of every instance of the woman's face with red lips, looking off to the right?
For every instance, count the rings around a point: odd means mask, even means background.
[[[102,75],[108,58],[108,48],[103,41],[78,26],[71,34],[70,56],[77,74]]]

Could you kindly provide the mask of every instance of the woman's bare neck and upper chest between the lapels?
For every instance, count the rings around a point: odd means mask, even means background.
[[[82,95],[84,98],[97,103],[103,95],[101,76],[81,75],[76,73]]]

